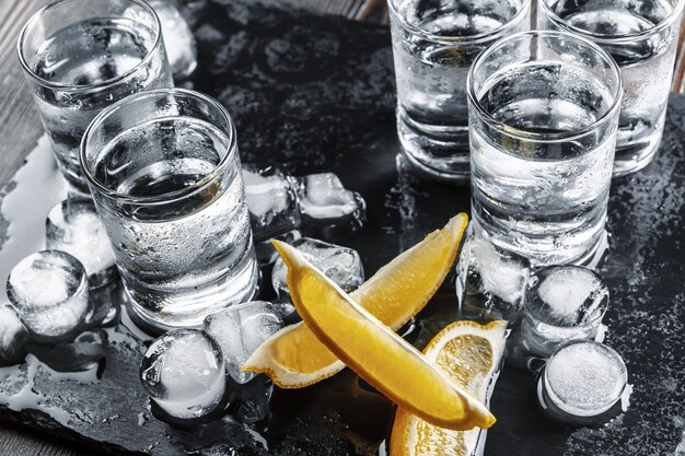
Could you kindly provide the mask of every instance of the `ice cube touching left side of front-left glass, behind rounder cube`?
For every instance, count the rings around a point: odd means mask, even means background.
[[[114,250],[93,200],[70,198],[58,202],[50,210],[45,225],[47,248],[78,258],[85,268],[91,288],[117,279]]]

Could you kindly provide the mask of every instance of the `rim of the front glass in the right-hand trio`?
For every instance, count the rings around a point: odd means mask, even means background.
[[[516,39],[521,39],[524,37],[549,37],[549,38],[557,38],[557,39],[564,38],[567,40],[571,39],[571,40],[581,43],[582,45],[591,48],[594,52],[599,54],[602,57],[602,60],[606,61],[608,67],[614,70],[613,72],[616,75],[616,87],[612,91],[613,101],[612,101],[612,104],[607,107],[606,112],[590,125],[587,125],[576,130],[562,131],[562,132],[556,132],[556,133],[538,133],[535,131],[530,131],[530,130],[525,130],[522,128],[512,127],[492,117],[492,115],[483,107],[483,105],[480,104],[480,101],[478,100],[478,96],[474,87],[474,73],[476,69],[478,69],[483,65],[483,62],[495,50],[499,49],[502,45],[506,45],[510,42],[514,42]],[[483,52],[478,55],[478,57],[476,57],[473,65],[471,66],[471,69],[468,70],[468,74],[466,77],[466,87],[467,87],[466,89],[467,97],[471,102],[471,106],[475,108],[475,112],[478,115],[478,117],[480,117],[486,124],[488,124],[490,127],[495,128],[497,131],[508,137],[512,137],[512,138],[524,140],[524,141],[538,142],[538,143],[556,143],[556,142],[574,140],[574,139],[582,138],[583,136],[590,133],[593,130],[596,130],[602,125],[609,121],[612,117],[618,112],[618,109],[620,109],[620,100],[623,97],[623,78],[620,75],[620,69],[618,68],[618,65],[616,63],[616,61],[608,55],[608,52],[602,49],[599,45],[592,43],[590,39],[584,38],[582,36],[576,36],[568,32],[544,31],[544,30],[531,30],[531,31],[525,31],[525,32],[519,32],[519,33],[515,33],[513,35],[507,36],[498,40],[492,46],[485,49]]]

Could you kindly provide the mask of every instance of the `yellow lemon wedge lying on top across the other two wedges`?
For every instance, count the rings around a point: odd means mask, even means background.
[[[388,399],[441,428],[489,428],[495,417],[461,385],[357,304],[294,247],[274,241],[298,313],[340,361]]]

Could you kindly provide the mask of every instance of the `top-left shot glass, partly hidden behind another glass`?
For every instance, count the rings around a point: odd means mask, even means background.
[[[160,22],[140,0],[62,0],[28,20],[18,49],[57,165],[88,194],[79,144],[91,120],[132,93],[173,87]]]

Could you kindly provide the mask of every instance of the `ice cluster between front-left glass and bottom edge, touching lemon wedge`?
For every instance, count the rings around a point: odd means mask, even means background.
[[[140,364],[140,381],[163,411],[158,418],[178,424],[223,412],[247,424],[267,419],[274,384],[241,367],[283,327],[279,311],[268,302],[240,304],[209,315],[204,329],[174,329],[156,339]]]

